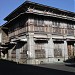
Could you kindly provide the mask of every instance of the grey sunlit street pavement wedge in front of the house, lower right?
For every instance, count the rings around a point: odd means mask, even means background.
[[[51,64],[40,64],[38,66],[75,73],[75,64],[73,63],[51,63]]]

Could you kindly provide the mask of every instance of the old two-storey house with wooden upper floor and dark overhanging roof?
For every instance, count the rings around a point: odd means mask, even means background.
[[[75,55],[75,13],[26,1],[5,20],[8,60],[40,64],[63,62]]]

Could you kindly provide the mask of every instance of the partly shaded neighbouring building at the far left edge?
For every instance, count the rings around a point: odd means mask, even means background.
[[[0,58],[7,59],[8,50],[5,42],[8,42],[8,29],[0,26]]]

